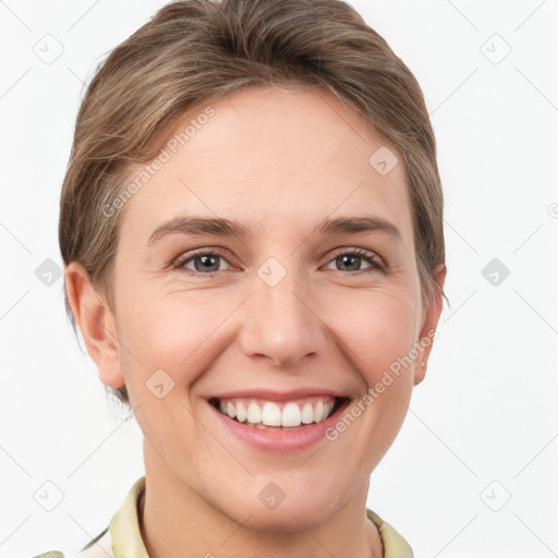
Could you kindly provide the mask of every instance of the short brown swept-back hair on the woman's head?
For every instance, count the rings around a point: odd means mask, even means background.
[[[186,112],[256,85],[325,87],[403,156],[428,301],[445,242],[436,142],[423,94],[385,39],[339,0],[174,1],[114,48],[77,116],[60,201],[64,264],[82,264],[113,307],[122,211],[108,218],[104,207],[122,192],[131,166],[149,161]],[[112,391],[129,403],[125,386]]]

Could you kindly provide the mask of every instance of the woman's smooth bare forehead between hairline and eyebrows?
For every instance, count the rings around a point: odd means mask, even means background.
[[[386,173],[378,158],[398,162]],[[284,230],[362,213],[412,233],[402,158],[327,90],[250,88],[201,105],[159,159],[125,207],[123,228],[134,235],[183,215]],[[129,180],[144,168],[132,168]]]

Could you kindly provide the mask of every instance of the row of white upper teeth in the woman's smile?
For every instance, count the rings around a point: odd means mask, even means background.
[[[314,404],[306,402],[302,405],[291,401],[281,408],[272,401],[265,401],[263,404],[256,401],[220,401],[221,413],[236,418],[243,423],[263,423],[267,426],[296,427],[301,424],[319,423],[325,421],[333,409],[335,400],[330,398],[319,399]]]

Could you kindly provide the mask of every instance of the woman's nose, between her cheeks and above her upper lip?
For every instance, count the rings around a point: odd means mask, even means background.
[[[326,325],[294,276],[288,272],[276,286],[254,278],[240,331],[241,348],[251,359],[296,368],[324,352]]]

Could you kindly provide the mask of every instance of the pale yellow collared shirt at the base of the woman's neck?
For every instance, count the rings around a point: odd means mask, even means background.
[[[51,550],[35,558],[149,558],[140,530],[138,501],[145,492],[145,476],[138,478],[128,493],[121,508],[109,525],[77,554]],[[413,558],[409,543],[377,513],[366,509],[384,545],[384,558]]]

